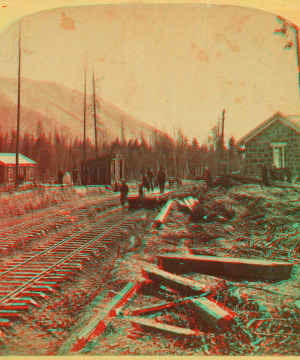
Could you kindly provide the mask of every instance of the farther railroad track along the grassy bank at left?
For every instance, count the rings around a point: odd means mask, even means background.
[[[58,228],[68,222],[72,222],[79,217],[83,217],[93,211],[103,211],[112,206],[119,206],[118,196],[96,197],[92,199],[80,200],[71,205],[61,206],[57,209],[50,209],[42,216],[33,218],[14,226],[0,229],[1,256],[5,256],[14,251],[24,242],[45,234],[49,229]]]

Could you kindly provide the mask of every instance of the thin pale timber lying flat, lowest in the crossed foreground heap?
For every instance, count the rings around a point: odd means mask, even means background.
[[[176,337],[203,335],[202,333],[199,333],[197,331],[194,331],[194,330],[191,330],[188,328],[181,328],[178,326],[162,324],[162,323],[158,323],[156,321],[145,319],[145,318],[132,318],[130,321],[136,327],[145,328],[145,329],[151,330],[151,331],[167,333],[169,335],[174,335]]]

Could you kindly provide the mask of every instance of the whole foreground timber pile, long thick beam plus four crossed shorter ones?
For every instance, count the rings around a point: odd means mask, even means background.
[[[241,259],[217,256],[157,256],[158,267],[151,265],[142,269],[148,285],[158,284],[169,288],[177,295],[176,300],[154,306],[135,309],[131,312],[131,323],[138,330],[159,332],[176,337],[193,337],[205,335],[199,329],[178,327],[149,319],[146,316],[171,309],[176,312],[179,304],[189,304],[187,311],[202,324],[216,331],[226,331],[232,327],[237,314],[217,301],[207,298],[213,289],[198,281],[188,279],[178,273],[200,272],[211,275],[242,276],[247,279],[263,278],[265,280],[282,280],[290,276],[293,264],[279,261],[258,259]],[[177,274],[176,274],[177,273]],[[173,297],[174,299],[174,297]],[[190,309],[190,310],[188,310]]]

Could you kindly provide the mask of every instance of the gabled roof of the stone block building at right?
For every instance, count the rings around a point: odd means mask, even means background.
[[[277,111],[267,120],[263,121],[253,130],[244,135],[237,143],[239,145],[244,145],[246,142],[260,134],[263,130],[265,130],[277,120],[281,121],[283,124],[300,134],[300,115],[283,115],[281,112]]]

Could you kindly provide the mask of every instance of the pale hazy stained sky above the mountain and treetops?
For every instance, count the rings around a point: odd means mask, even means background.
[[[275,111],[300,114],[295,49],[273,14],[225,5],[100,5],[22,20],[22,75],[98,93],[136,118],[207,138],[226,109],[240,138]],[[0,76],[17,72],[17,26],[0,37]],[[101,115],[100,115],[101,116]]]

